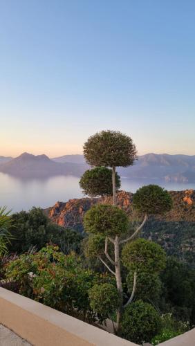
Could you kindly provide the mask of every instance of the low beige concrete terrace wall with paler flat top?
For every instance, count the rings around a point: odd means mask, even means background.
[[[35,346],[138,346],[1,287],[0,324]],[[160,346],[195,346],[195,329]]]

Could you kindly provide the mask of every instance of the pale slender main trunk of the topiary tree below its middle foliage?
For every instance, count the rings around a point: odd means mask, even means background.
[[[121,281],[121,274],[120,274],[120,255],[119,255],[119,237],[118,236],[115,237],[114,252],[115,252],[115,280],[116,280],[118,293],[120,295],[120,307],[118,307],[118,310],[117,310],[117,320],[116,320],[116,331],[119,331],[120,317],[122,312],[122,281]]]

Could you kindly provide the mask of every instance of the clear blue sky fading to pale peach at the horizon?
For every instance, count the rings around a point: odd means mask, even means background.
[[[0,155],[195,154],[195,1],[0,0]]]

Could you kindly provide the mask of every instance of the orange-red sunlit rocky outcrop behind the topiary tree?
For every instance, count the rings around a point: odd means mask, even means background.
[[[194,221],[195,222],[195,191],[171,191],[173,208],[163,216],[155,219],[165,221]],[[132,208],[133,194],[131,192],[120,191],[117,194],[117,205],[127,212],[129,218],[135,215]],[[83,230],[82,220],[84,213],[95,203],[112,203],[112,197],[70,199],[68,202],[57,202],[55,206],[46,209],[48,217],[65,228],[75,228]]]

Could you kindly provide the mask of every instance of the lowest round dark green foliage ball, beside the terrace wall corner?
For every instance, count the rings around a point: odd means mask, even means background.
[[[151,304],[136,300],[127,306],[122,315],[122,336],[133,343],[147,343],[161,327],[158,312]]]

